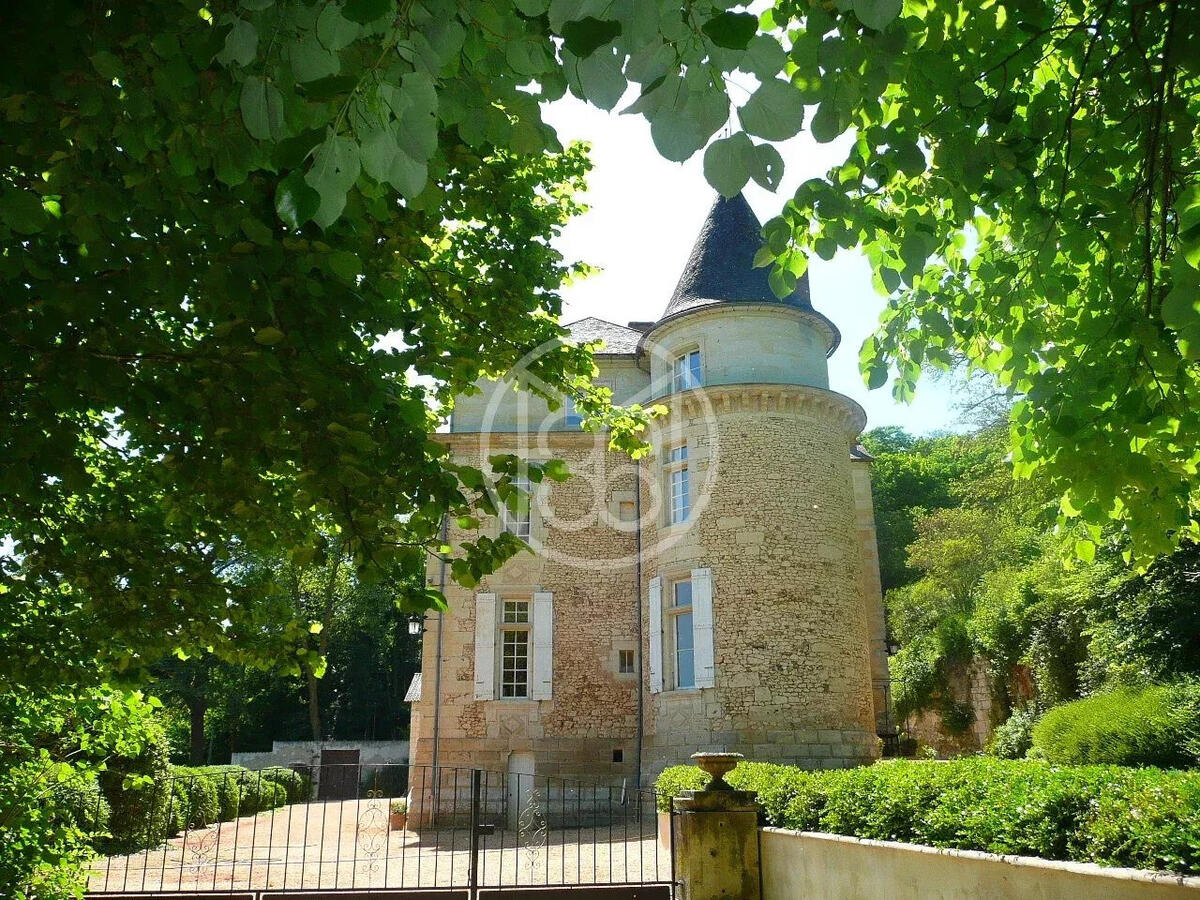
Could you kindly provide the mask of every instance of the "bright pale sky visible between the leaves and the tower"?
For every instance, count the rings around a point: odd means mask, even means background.
[[[618,109],[629,102],[626,97]],[[559,139],[592,144],[593,169],[588,176],[590,206],[571,221],[557,241],[568,259],[582,259],[602,271],[563,292],[564,322],[587,316],[625,324],[654,320],[662,314],[700,226],[716,194],[703,174],[703,154],[685,163],[659,156],[650,128],[636,115],[590,107],[574,97],[544,108]],[[746,200],[758,218],[774,216],[797,185],[822,175],[845,156],[845,138],[817,144],[806,133],[779,144],[784,181],[776,193],[751,182]],[[842,251],[832,260],[809,263],[812,305],[841,330],[841,347],[829,360],[829,386],[858,401],[866,410],[868,428],[901,425],[914,434],[960,431],[952,384],[925,378],[916,400],[898,403],[890,384],[869,391],[858,372],[858,349],[875,330],[884,300],[871,287],[866,258]]]

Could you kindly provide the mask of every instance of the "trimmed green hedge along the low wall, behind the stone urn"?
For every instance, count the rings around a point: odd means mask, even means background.
[[[757,791],[780,828],[1200,874],[1200,772],[976,756],[826,772],[742,763],[726,780]],[[666,769],[660,809],[707,781],[691,766]]]

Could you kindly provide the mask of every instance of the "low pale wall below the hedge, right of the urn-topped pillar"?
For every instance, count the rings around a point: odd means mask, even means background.
[[[780,828],[761,836],[763,900],[1200,900],[1200,877]]]

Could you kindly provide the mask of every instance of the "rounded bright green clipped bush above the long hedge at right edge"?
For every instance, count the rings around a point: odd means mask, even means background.
[[[1120,688],[1048,712],[1033,728],[1039,757],[1067,766],[1195,766],[1200,682]]]

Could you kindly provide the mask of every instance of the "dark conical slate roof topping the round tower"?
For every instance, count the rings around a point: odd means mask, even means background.
[[[745,197],[740,193],[732,199],[718,197],[662,318],[728,302],[786,304],[811,310],[808,272],[790,296],[782,300],[775,296],[767,281],[770,266],[754,266],[755,253],[762,245],[762,224]]]

